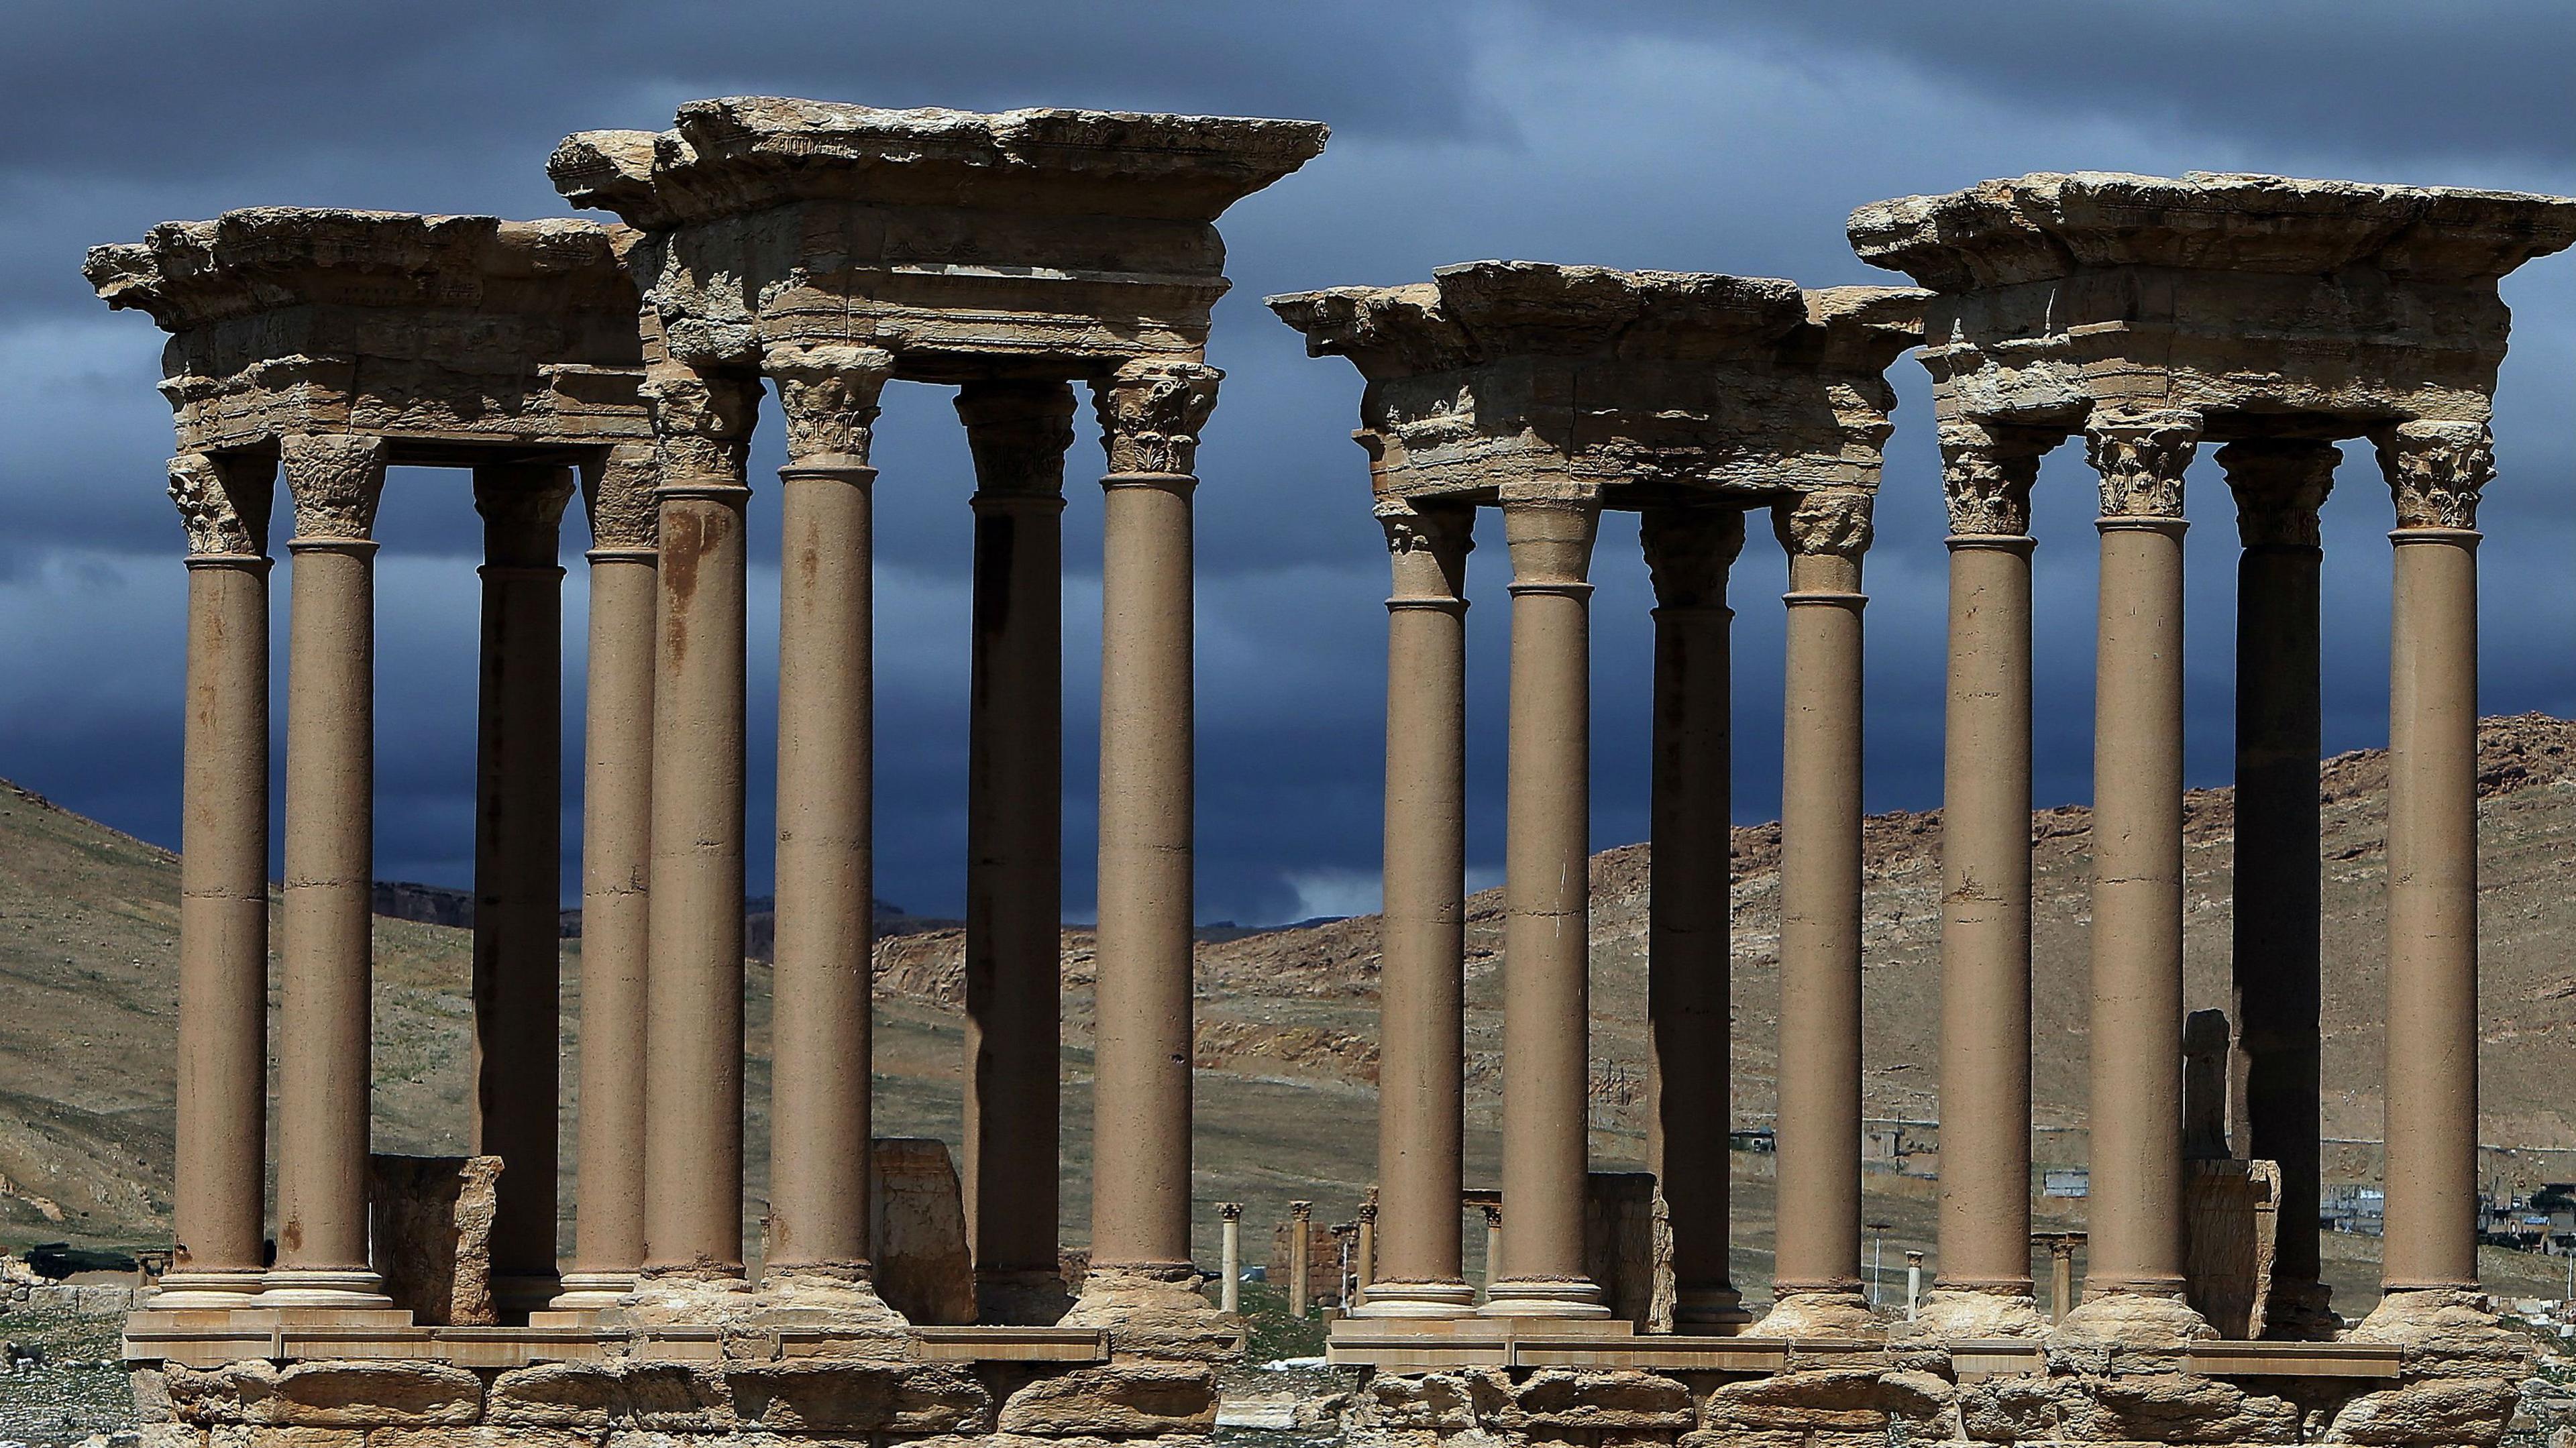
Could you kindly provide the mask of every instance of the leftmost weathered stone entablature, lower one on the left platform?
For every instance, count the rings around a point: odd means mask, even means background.
[[[260,206],[93,247],[85,273],[170,332],[180,451],[368,433],[394,464],[466,461],[652,438],[631,240],[577,219]]]

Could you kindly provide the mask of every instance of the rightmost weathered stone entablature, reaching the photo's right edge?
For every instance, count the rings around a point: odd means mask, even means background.
[[[2576,198],[2081,170],[1852,211],[1862,260],[1935,289],[1942,420],[2190,410],[2208,441],[2483,423],[2496,278],[2576,242]]]

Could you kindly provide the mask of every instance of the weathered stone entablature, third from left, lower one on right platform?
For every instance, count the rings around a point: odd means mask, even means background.
[[[1901,286],[1479,260],[1430,283],[1273,296],[1311,356],[1368,379],[1381,497],[1605,508],[1875,490],[1929,294]]]

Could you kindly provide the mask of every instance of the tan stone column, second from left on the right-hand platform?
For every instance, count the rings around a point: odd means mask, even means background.
[[[1592,533],[1582,497],[1507,497],[1512,721],[1502,920],[1502,1278],[1486,1317],[1607,1317],[1584,1275],[1592,1085]]]

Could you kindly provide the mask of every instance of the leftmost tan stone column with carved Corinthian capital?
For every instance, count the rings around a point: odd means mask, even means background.
[[[188,714],[178,891],[178,1255],[149,1306],[260,1291],[268,1175],[268,505],[270,464],[180,453]]]

